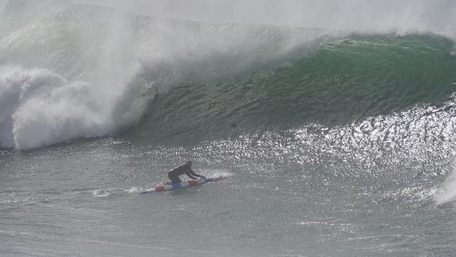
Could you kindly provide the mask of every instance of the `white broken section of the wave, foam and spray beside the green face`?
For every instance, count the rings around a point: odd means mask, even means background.
[[[14,97],[0,110],[0,147],[18,149],[116,133],[142,117],[155,92],[280,67],[325,33],[207,25],[66,1],[2,6],[0,95]],[[29,84],[36,90],[22,98]]]

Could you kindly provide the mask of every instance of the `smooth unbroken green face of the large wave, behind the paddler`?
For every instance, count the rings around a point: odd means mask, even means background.
[[[258,71],[245,81],[182,84],[156,95],[131,133],[182,143],[251,129],[335,126],[443,103],[454,91],[455,78],[450,39],[352,34],[331,39],[289,67]]]

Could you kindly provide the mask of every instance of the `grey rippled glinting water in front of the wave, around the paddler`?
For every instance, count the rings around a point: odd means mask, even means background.
[[[454,145],[420,129],[410,145],[394,126],[371,140],[383,143],[362,145],[373,137],[361,131],[366,122],[195,147],[103,138],[3,151],[2,254],[450,256],[456,208],[435,198]],[[205,175],[230,176],[138,194],[186,159]]]

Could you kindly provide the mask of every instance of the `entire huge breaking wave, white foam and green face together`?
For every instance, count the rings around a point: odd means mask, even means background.
[[[336,126],[454,91],[454,43],[436,34],[211,25],[51,0],[0,6],[1,147]]]

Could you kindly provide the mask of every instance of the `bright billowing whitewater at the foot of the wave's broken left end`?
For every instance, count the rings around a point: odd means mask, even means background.
[[[131,122],[134,115],[113,118],[123,95],[107,102],[94,89],[49,70],[0,67],[0,146],[29,149],[104,136]]]

